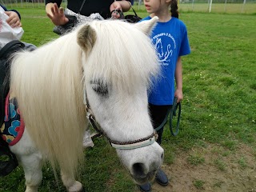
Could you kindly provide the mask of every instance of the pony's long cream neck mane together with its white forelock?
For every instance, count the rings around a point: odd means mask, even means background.
[[[83,78],[132,91],[138,83],[148,86],[150,76],[158,73],[150,39],[133,24],[106,20],[87,25],[96,32],[89,54],[78,46],[83,27],[78,26],[38,50],[16,54],[11,66],[10,89],[30,137],[52,165],[57,161],[67,174],[74,174],[83,158]]]

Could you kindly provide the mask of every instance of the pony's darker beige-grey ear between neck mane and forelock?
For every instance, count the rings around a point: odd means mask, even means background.
[[[82,28],[78,30],[77,41],[82,50],[90,52],[94,46],[94,42],[96,41],[95,30],[89,25],[82,26]]]

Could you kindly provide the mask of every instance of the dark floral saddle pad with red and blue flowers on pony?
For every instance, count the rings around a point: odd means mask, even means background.
[[[17,99],[10,98],[8,94],[5,103],[5,119],[0,129],[1,136],[10,146],[14,146],[22,138],[24,128]]]

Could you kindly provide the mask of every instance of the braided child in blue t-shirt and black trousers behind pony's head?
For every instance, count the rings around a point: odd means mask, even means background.
[[[161,66],[160,78],[154,81],[154,86],[149,90],[149,109],[154,129],[158,130],[157,142],[162,142],[162,124],[174,97],[177,102],[183,99],[182,93],[182,56],[190,54],[190,45],[187,38],[185,24],[178,19],[177,0],[144,0],[150,16],[143,20],[150,20],[158,16],[159,21],[150,38],[158,54],[158,64]],[[175,90],[176,83],[176,90]],[[163,170],[159,169],[156,181],[168,185],[169,181]],[[150,183],[139,186],[142,191],[150,191]]]

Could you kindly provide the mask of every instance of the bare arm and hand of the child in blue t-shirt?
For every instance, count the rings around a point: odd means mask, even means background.
[[[175,97],[177,97],[177,102],[181,102],[183,99],[182,92],[182,57],[178,57],[178,61],[176,64],[175,70],[175,82],[176,82],[176,90]]]

